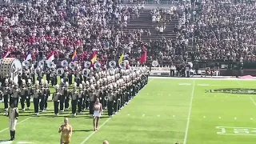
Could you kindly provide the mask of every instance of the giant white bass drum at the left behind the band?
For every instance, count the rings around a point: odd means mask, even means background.
[[[22,62],[17,58],[3,58],[0,63],[0,76],[18,83],[18,74],[22,74]]]

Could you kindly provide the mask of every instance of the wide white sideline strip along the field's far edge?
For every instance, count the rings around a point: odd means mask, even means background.
[[[256,78],[253,79],[240,79],[240,78],[228,78],[228,77],[219,77],[219,78],[176,78],[176,77],[152,77],[152,79],[200,79],[200,80],[216,80],[216,81],[256,81]]]

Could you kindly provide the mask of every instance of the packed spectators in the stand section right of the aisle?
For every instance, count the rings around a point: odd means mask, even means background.
[[[207,1],[200,8],[194,29],[193,60],[256,60],[255,2]]]

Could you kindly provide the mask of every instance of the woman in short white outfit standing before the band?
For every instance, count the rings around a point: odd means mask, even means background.
[[[98,122],[102,113],[102,104],[99,102],[99,99],[96,98],[96,102],[94,103],[94,131],[98,130]]]

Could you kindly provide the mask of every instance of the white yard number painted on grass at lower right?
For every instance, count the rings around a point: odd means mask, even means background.
[[[253,127],[216,126],[216,129],[221,135],[256,135],[256,128]]]

